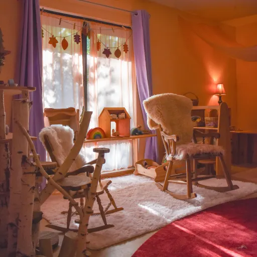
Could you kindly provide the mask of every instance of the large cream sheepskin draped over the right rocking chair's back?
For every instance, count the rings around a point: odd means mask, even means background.
[[[152,119],[162,126],[166,134],[179,136],[178,145],[192,141],[191,110],[193,104],[188,97],[171,93],[158,94],[149,97],[143,104],[151,130],[154,129],[151,125]]]

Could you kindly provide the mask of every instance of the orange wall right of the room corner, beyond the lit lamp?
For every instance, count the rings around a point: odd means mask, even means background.
[[[255,22],[236,28],[236,40],[245,46],[257,45],[257,18]],[[236,61],[237,126],[243,130],[257,130],[256,87],[257,63]]]

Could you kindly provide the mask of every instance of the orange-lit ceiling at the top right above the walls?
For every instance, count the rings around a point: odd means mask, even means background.
[[[149,0],[216,21],[257,14],[257,0]]]

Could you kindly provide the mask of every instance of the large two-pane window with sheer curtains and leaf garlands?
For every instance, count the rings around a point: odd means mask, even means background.
[[[75,33],[77,30],[73,30],[73,25],[66,25],[63,22],[65,19],[62,19],[60,27],[58,18],[47,15],[43,17],[43,28],[52,35],[62,37]],[[83,21],[76,21],[76,25],[82,27]],[[73,37],[66,38],[69,44],[66,50],[62,49],[60,42],[56,48],[49,45],[51,35],[46,35],[43,39],[44,107],[75,107],[81,110],[85,105],[87,110],[93,111],[89,129],[98,126],[98,115],[103,107],[125,107],[132,117],[131,127],[135,127],[133,96],[136,79],[132,31],[93,22],[90,23],[90,28],[90,40],[82,38],[87,40],[86,44],[85,41],[82,42],[83,47],[87,47],[87,51],[85,49],[82,51],[82,44],[77,45]],[[57,38],[57,40],[62,39]],[[99,51],[97,51],[97,41],[101,42]],[[129,47],[127,53],[123,51],[124,43]],[[111,51],[109,58],[103,54],[104,49],[107,48]],[[117,48],[121,52],[119,58],[114,55]],[[85,76],[87,80],[84,82],[86,90],[83,89],[84,58],[87,60],[87,69],[84,69],[84,73],[87,73]],[[85,101],[84,91],[86,92]],[[131,141],[86,144],[83,153],[87,161],[96,157],[92,151],[95,147],[110,148],[103,170],[117,170],[134,165]]]

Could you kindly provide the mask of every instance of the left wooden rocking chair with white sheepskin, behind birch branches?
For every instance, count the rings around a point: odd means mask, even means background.
[[[63,126],[63,125],[51,125],[41,131],[40,140],[43,143],[43,145],[45,146],[45,149],[47,150],[47,152],[49,153],[49,156],[50,156],[52,162],[55,162],[57,164],[57,167],[60,167],[63,162],[62,157],[59,156],[61,151],[60,151],[60,147],[57,147],[58,142],[60,142],[60,141],[63,142],[64,140],[66,141],[65,142],[66,149],[64,152],[68,153],[73,145],[73,143],[72,143],[73,136],[74,136],[73,130],[70,129],[70,127],[68,127],[68,126]],[[81,209],[84,208],[84,198],[86,195],[85,195],[85,191],[81,190],[80,186],[76,187],[76,185],[80,184],[79,183],[80,180],[83,181],[84,179],[86,180],[86,179],[92,177],[92,174],[94,172],[94,167],[92,166],[92,164],[96,164],[96,161],[97,161],[97,159],[93,160],[89,163],[86,163],[84,157],[81,154],[79,154],[78,157],[76,158],[74,164],[71,166],[70,170],[73,170],[73,171],[71,171],[71,172],[69,171],[65,176],[67,178],[66,180],[69,181],[69,183],[68,183],[69,186],[67,186],[67,183],[66,183],[67,181],[65,182],[65,184],[60,184],[67,191],[69,191],[69,190],[73,191],[73,192],[75,191],[71,195],[72,195],[73,199],[78,199],[78,198],[80,199],[80,208]],[[85,167],[88,167],[88,165],[90,165],[91,168],[85,169]],[[82,173],[85,173],[86,176],[83,176]],[[79,174],[82,176],[80,176]],[[71,186],[71,183],[70,183],[71,180],[72,180],[72,182],[74,182],[74,186]],[[99,206],[99,212],[94,213],[94,215],[101,215],[104,225],[99,226],[99,227],[89,228],[88,229],[89,233],[113,227],[114,225],[107,224],[106,215],[123,210],[122,207],[117,208],[115,201],[108,190],[108,186],[110,184],[111,184],[111,180],[101,181],[101,178],[99,178],[99,183],[97,185],[97,189],[96,189],[96,193],[95,193],[96,202]],[[101,199],[99,197],[100,195],[102,195],[104,193],[106,193],[109,198],[109,203],[107,204],[107,206],[105,208],[103,208],[103,206],[101,204]],[[67,199],[67,198],[64,197],[64,199]],[[111,206],[113,206],[113,208],[109,209]],[[56,230],[59,230],[59,231],[62,231],[62,232],[67,232],[67,231],[75,231],[76,232],[77,229],[70,228],[71,218],[74,215],[78,215],[78,212],[76,210],[72,211],[72,207],[73,207],[73,205],[71,203],[69,203],[68,211],[62,212],[62,214],[67,213],[66,228],[57,226],[57,225],[53,225],[53,224],[48,224],[46,226],[56,229]]]

